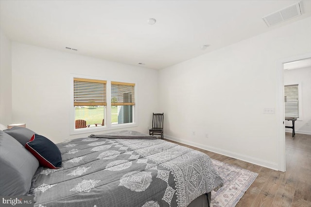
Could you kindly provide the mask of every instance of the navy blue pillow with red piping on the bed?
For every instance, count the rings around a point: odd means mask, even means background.
[[[37,158],[40,166],[57,169],[62,165],[62,156],[58,147],[46,137],[34,134],[25,148]]]

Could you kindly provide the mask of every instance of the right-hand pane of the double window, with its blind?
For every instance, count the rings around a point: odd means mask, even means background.
[[[111,82],[111,124],[133,122],[135,84]]]

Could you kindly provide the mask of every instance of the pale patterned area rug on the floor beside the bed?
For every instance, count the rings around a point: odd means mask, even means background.
[[[224,186],[217,192],[212,191],[211,207],[235,207],[258,173],[215,159],[212,159],[212,162],[223,178]]]

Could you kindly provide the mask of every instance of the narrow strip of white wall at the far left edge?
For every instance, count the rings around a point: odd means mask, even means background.
[[[0,123],[12,123],[11,41],[0,28]]]

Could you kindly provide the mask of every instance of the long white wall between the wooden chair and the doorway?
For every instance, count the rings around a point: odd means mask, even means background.
[[[310,17],[160,70],[165,137],[279,169],[278,65],[307,52]]]

